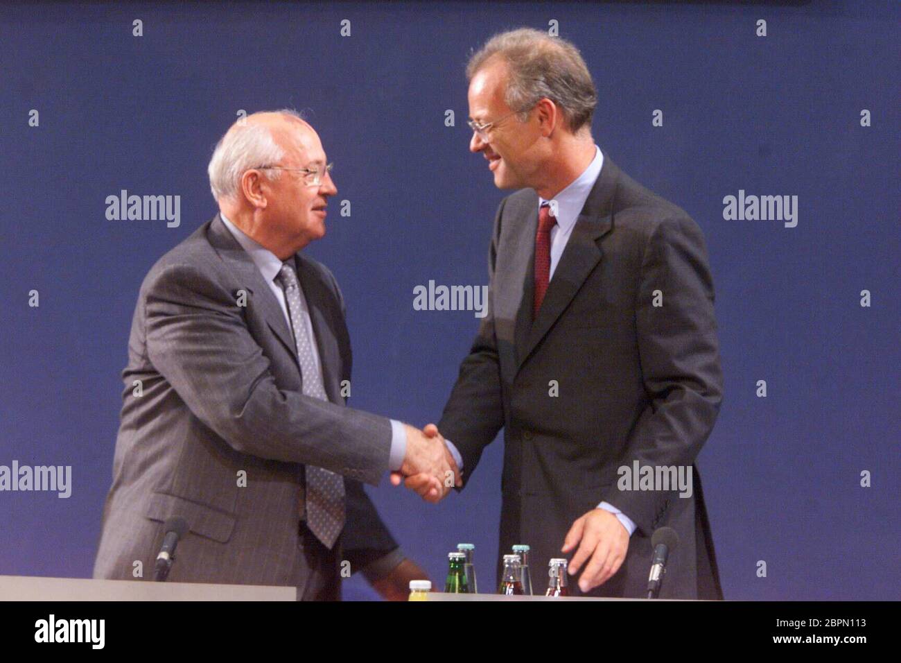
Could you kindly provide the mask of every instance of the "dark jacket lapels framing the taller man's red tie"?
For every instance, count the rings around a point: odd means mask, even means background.
[[[542,338],[560,318],[579,288],[601,261],[603,252],[598,241],[613,227],[613,202],[619,169],[604,152],[604,165],[595,186],[586,198],[585,206],[578,215],[572,235],[569,235],[566,249],[554,270],[551,283],[544,294],[542,308],[532,320],[532,299],[534,291],[535,230],[538,227],[538,208],[532,208],[532,252],[525,270],[527,286],[523,288],[523,299],[516,317],[516,356],[518,368],[532,355]],[[526,296],[528,295],[528,296]],[[529,324],[531,323],[531,324]]]

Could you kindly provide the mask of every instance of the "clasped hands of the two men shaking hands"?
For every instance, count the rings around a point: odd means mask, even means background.
[[[406,455],[400,470],[391,473],[391,483],[403,482],[426,502],[441,502],[451,488],[463,484],[460,469],[437,426],[429,424],[419,430],[404,424],[404,428]]]

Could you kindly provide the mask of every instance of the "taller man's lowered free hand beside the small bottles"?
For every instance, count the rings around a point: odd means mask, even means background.
[[[569,562],[569,575],[575,576],[590,558],[578,579],[578,588],[590,592],[603,585],[623,565],[629,550],[629,532],[610,511],[592,509],[572,524],[561,549],[568,553],[576,546],[576,555]]]

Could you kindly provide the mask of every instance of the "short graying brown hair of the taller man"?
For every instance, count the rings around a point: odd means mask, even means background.
[[[510,79],[504,100],[511,110],[524,109],[518,114],[521,122],[532,106],[547,97],[560,106],[571,132],[591,128],[597,106],[595,83],[572,43],[532,28],[501,32],[469,58],[467,80],[494,57],[507,64]]]

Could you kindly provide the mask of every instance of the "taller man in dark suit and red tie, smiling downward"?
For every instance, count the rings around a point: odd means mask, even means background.
[[[701,230],[595,144],[595,85],[568,41],[498,34],[467,77],[469,150],[521,190],[498,207],[487,317],[438,428],[467,481],[505,429],[502,550],[529,544],[540,569],[571,553],[577,593],[645,596],[669,526],[660,596],[722,598],[694,465],[723,393]],[[694,490],[634,490],[618,478],[635,463],[693,470]]]

